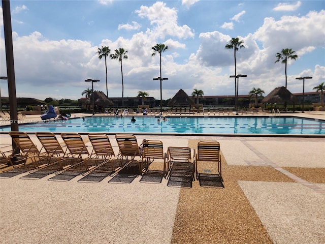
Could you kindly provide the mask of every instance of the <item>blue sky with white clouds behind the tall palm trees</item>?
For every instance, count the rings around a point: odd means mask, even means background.
[[[10,1],[17,97],[77,100],[85,79],[100,79],[95,90],[106,94],[105,61],[101,46],[128,50],[123,60],[124,97],[139,90],[160,99],[159,55],[156,43],[169,49],[162,55],[163,99],[179,89],[190,95],[233,95],[234,51],[231,38],[243,40],[237,52],[239,94],[253,87],[267,94],[285,85],[284,65],[275,54],[292,48],[299,56],[289,61],[287,88],[305,92],[325,81],[324,1]],[[7,75],[3,14],[1,13],[0,73]],[[121,70],[107,59],[108,97],[121,97]],[[1,95],[8,96],[1,80]]]

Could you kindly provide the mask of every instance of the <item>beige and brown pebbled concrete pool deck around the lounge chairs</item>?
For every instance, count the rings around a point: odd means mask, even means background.
[[[289,115],[289,114],[286,114]],[[83,116],[83,114],[78,114]],[[324,112],[294,116],[324,119]],[[30,134],[35,143],[37,138]],[[114,135],[109,135],[115,153]],[[224,188],[0,178],[2,243],[323,243],[325,138],[154,136],[221,145]],[[4,148],[11,144],[0,134]],[[38,143],[39,145],[39,143]],[[26,173],[25,173],[26,174]]]

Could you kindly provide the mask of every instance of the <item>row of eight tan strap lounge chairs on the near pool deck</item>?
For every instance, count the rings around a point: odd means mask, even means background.
[[[26,171],[49,168],[52,170],[50,173],[64,174],[65,171],[75,170],[76,175],[96,171],[106,177],[128,164],[137,164],[139,174],[143,175],[155,161],[165,178],[185,177],[193,181],[208,176],[223,181],[220,144],[217,141],[200,141],[196,149],[170,146],[164,151],[163,142],[159,140],[144,139],[139,145],[135,135],[116,134],[119,152],[115,155],[110,139],[104,133],[88,134],[91,152],[78,133],[62,133],[63,143],[60,143],[51,132],[37,132],[41,149],[25,132],[9,134],[16,148],[8,161],[14,168],[25,167]]]

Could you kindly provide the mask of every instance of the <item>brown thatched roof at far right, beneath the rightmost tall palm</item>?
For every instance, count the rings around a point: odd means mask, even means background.
[[[296,103],[297,98],[289,92],[284,86],[276,87],[266,96],[262,103]]]

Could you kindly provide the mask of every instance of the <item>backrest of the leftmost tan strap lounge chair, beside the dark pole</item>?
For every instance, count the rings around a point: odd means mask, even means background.
[[[39,154],[40,151],[29,138],[25,132],[21,131],[11,131],[9,132],[12,140],[16,144],[16,147],[20,148],[20,151],[24,154]],[[15,150],[13,150],[15,151]]]

